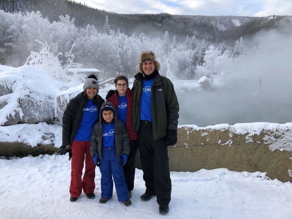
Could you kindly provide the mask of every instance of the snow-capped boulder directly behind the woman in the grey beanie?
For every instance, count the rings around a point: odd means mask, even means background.
[[[67,91],[61,91],[57,94],[57,97],[55,99],[55,116],[59,121],[62,123],[62,117],[64,114],[64,111],[67,107],[67,104],[69,100],[76,97],[77,94],[81,93],[83,91],[83,84],[80,84],[77,87],[69,88]]]

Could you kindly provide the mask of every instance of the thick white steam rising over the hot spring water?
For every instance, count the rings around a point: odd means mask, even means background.
[[[253,43],[254,51],[226,68],[223,88],[177,92],[179,125],[292,122],[291,30],[262,32]]]

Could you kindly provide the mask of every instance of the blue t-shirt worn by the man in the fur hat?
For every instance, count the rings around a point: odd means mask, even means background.
[[[143,92],[141,99],[141,120],[148,120],[152,122],[152,108],[151,108],[151,87],[154,82],[154,78],[146,81],[143,80]]]

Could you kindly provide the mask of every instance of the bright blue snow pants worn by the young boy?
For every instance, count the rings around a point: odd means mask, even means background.
[[[116,147],[102,147],[102,159],[99,168],[101,173],[101,197],[104,199],[112,197],[112,178],[114,178],[118,200],[126,201],[129,199],[128,188],[120,160],[121,156],[116,157]]]

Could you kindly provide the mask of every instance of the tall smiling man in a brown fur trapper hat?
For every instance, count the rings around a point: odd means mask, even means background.
[[[143,52],[135,75],[133,127],[138,131],[140,159],[148,201],[157,197],[159,213],[169,211],[171,179],[167,146],[177,142],[178,100],[171,81],[159,74],[160,64],[152,51]]]

